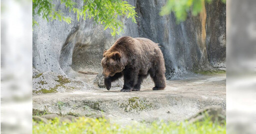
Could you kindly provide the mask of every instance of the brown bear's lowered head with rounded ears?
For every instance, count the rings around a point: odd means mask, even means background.
[[[125,67],[124,64],[124,57],[119,52],[104,51],[101,66],[105,77],[121,72]]]

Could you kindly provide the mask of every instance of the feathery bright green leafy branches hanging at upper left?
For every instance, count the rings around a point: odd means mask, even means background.
[[[111,35],[115,36],[123,32],[123,23],[120,20],[123,16],[131,18],[136,23],[136,12],[134,6],[122,0],[83,0],[81,8],[76,7],[77,3],[72,0],[60,0],[60,4],[64,4],[70,13],[75,13],[77,20],[91,19],[97,24],[102,24],[104,30],[111,29]],[[71,12],[72,11],[72,12]],[[65,21],[68,24],[72,19],[65,16],[61,10],[55,9],[55,4],[51,0],[33,0],[33,16],[39,15],[47,21],[57,19]],[[33,19],[33,26],[38,23]]]

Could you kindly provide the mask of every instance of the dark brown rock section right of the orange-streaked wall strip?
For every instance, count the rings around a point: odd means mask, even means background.
[[[207,58],[214,68],[225,68],[226,61],[226,4],[212,0],[206,6]],[[221,13],[219,13],[221,12]]]

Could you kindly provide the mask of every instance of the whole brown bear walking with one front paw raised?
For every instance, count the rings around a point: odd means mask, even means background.
[[[164,59],[158,45],[147,38],[123,36],[103,52],[101,60],[106,89],[123,76],[121,92],[139,91],[142,80],[150,75],[153,90],[165,88]]]

